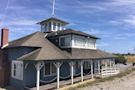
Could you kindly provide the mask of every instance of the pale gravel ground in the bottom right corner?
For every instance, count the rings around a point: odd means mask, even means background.
[[[97,83],[78,90],[135,90],[135,72],[113,81]]]

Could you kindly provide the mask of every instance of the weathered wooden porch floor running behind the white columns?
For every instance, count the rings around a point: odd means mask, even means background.
[[[83,80],[88,80],[88,79],[91,79],[91,75],[83,76]],[[80,76],[74,77],[74,83],[77,83],[77,82],[81,82]],[[67,85],[71,85],[71,79],[60,81],[60,88]],[[40,90],[53,90],[56,88],[57,88],[57,82],[40,86]],[[30,88],[30,90],[36,90],[36,87]]]

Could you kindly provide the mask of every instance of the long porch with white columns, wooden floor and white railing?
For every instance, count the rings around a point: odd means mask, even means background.
[[[63,62],[53,62],[56,67],[56,77],[53,79],[53,82],[46,83],[46,81],[41,80],[40,70],[44,66],[44,62],[38,62],[35,64],[37,72],[37,81],[35,87],[25,87],[28,90],[52,90],[64,87],[67,85],[72,85],[74,83],[83,82],[85,80],[93,79],[94,77],[106,77],[113,74],[117,74],[114,59],[104,59],[104,60],[81,60],[79,62],[80,73],[76,76],[74,74],[75,62],[70,61],[70,75],[68,79],[62,79],[60,75],[60,68]],[[87,73],[85,73],[87,71]],[[66,72],[66,71],[65,71]]]

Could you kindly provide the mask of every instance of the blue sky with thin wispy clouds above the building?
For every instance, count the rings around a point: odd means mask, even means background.
[[[51,12],[52,0],[0,0],[0,28],[9,29],[12,41],[40,31],[36,23]],[[101,38],[99,49],[135,53],[135,0],[56,0],[55,17]]]

